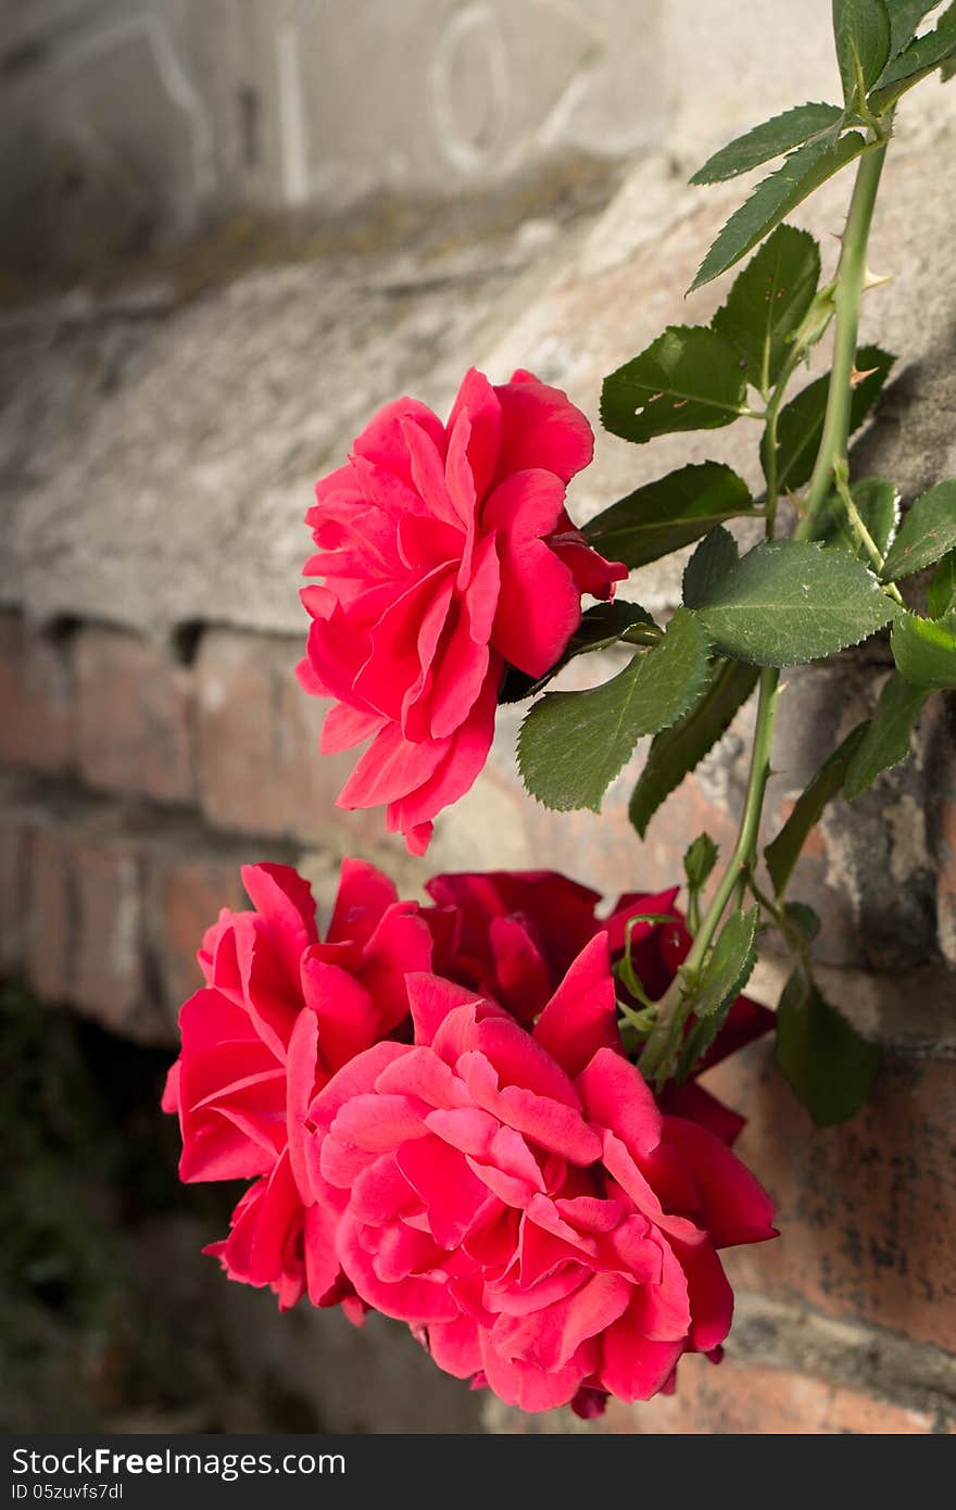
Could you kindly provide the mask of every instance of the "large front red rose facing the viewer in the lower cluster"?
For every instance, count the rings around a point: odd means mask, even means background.
[[[408,991],[414,1043],[359,1054],[308,1113],[308,1178],[356,1294],[526,1410],[669,1388],[683,1353],[726,1336],[717,1250],[773,1237],[772,1203],[622,1057],[607,930],[533,1033],[439,977]]]

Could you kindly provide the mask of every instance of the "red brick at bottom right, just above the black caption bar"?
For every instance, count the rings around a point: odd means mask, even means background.
[[[906,1409],[864,1389],[790,1368],[725,1357],[714,1368],[686,1357],[674,1395],[643,1404],[612,1401],[598,1425],[610,1434],[918,1436],[944,1427],[924,1410]]]

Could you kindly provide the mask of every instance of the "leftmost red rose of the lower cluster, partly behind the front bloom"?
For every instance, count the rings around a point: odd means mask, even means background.
[[[224,909],[199,950],[205,988],[180,1012],[163,1110],[183,1134],[184,1181],[252,1179],[230,1235],[205,1249],[230,1279],[269,1285],[279,1309],[308,1293],[364,1309],[343,1284],[328,1210],[305,1176],[305,1113],[349,1060],[408,1018],[406,971],[427,969],[429,929],[375,867],[344,861],[325,941],[288,865],[246,865],[254,911]]]

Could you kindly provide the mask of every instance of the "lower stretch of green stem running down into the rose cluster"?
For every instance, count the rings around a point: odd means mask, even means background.
[[[734,853],[726,865],[726,870],[723,871],[723,876],[720,877],[717,889],[714,891],[711,903],[704,915],[680,974],[674,977],[674,982],[668,988],[666,994],[657,1003],[657,1022],[645,1045],[643,1054],[640,1055],[640,1069],[648,1078],[655,1075],[663,1080],[668,1075],[671,1068],[669,1060],[672,1059],[672,1054],[680,1042],[680,1028],[686,1015],[683,1010],[686,1007],[687,995],[684,982],[693,982],[696,972],[701,969],[713,936],[720,924],[720,918],[723,917],[726,903],[729,901],[731,892],[734,891],[739,879],[746,874],[754,859],[757,835],[760,832],[760,815],[763,811],[764,793],[767,790],[767,778],[770,775],[770,747],[773,744],[778,683],[779,672],[775,667],[766,667],[761,670],[757,726],[754,729],[754,749],[751,753],[751,773],[743,802],[743,814],[740,817],[737,844],[734,846]]]

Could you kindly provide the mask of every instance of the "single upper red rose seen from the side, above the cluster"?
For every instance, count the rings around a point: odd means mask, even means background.
[[[325,752],[370,740],[338,805],[385,803],[414,855],[485,764],[506,663],[542,675],[581,595],[610,598],[627,575],[565,512],[592,451],[559,388],[527,371],[492,387],[473,368],[447,424],[397,399],[316,488],[305,575],[325,584],[302,592],[313,622],[299,678],[334,699]]]

